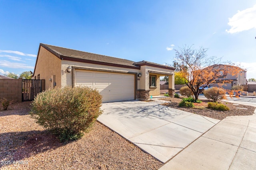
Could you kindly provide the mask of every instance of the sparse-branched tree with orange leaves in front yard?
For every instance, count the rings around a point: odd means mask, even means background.
[[[200,94],[199,87],[216,82],[216,79],[225,75],[237,75],[241,68],[231,63],[220,64],[220,58],[208,57],[208,49],[200,47],[194,49],[193,46],[185,45],[183,48],[175,49],[174,60],[180,67],[180,74],[185,79],[186,85],[190,88],[193,98],[198,100]],[[218,82],[224,84],[230,80]],[[203,87],[204,88],[204,87]]]

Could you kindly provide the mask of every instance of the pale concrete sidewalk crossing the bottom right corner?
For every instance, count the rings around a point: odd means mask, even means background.
[[[160,170],[255,170],[256,115],[227,117]]]

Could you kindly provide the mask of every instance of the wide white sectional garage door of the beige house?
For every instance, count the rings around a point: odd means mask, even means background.
[[[103,102],[134,100],[134,74],[76,70],[75,86],[97,88]]]

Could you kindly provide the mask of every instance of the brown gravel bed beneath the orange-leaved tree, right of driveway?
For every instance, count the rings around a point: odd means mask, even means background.
[[[230,108],[229,111],[217,111],[208,109],[207,102],[212,102],[210,100],[202,100],[201,104],[194,104],[196,107],[194,108],[186,108],[186,107],[179,107],[179,103],[182,98],[161,98],[161,100],[169,101],[170,103],[163,104],[164,106],[172,107],[175,109],[180,109],[184,111],[188,111],[190,113],[195,113],[198,115],[203,115],[207,117],[211,117],[214,119],[225,119],[227,116],[238,116],[238,115],[252,115],[254,113],[255,107],[253,106],[245,106],[241,104],[232,104],[228,102],[221,102],[222,104],[228,106]],[[201,99],[200,99],[201,100]]]

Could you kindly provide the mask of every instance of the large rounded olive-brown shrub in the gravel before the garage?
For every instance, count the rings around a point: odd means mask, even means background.
[[[30,114],[39,125],[66,142],[83,136],[83,131],[102,113],[101,105],[102,96],[96,89],[66,86],[39,93]]]

